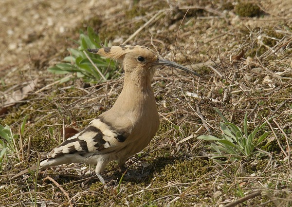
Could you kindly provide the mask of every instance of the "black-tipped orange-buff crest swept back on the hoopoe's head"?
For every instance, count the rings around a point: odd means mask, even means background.
[[[120,45],[120,46],[112,46],[112,47],[103,47],[98,49],[87,49],[91,53],[95,53],[100,56],[104,56],[110,59],[122,59],[127,53],[133,52],[133,51],[139,51],[139,50],[148,50],[149,52],[152,52],[154,55],[155,52],[151,50],[150,48],[147,48],[145,46],[140,45]]]

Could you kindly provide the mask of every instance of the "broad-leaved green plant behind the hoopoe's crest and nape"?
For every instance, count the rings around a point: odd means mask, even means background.
[[[105,81],[112,76],[112,72],[117,69],[115,61],[87,52],[88,48],[102,47],[99,36],[91,27],[87,28],[87,35],[80,30],[79,40],[74,42],[79,47],[77,49],[69,48],[68,51],[71,55],[63,59],[65,63],[57,63],[54,67],[48,68],[49,72],[58,75],[76,73],[77,77],[91,83]],[[107,41],[103,46],[109,46]]]

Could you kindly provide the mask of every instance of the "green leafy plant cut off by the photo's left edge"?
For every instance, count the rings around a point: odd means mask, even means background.
[[[24,132],[25,123],[27,120],[27,115],[24,117],[22,124],[20,126],[21,135]],[[15,139],[18,138],[18,134],[14,134],[9,126],[3,127],[0,125],[0,172],[3,170],[3,163],[8,159],[8,155],[13,156],[17,152],[17,147],[15,145]]]

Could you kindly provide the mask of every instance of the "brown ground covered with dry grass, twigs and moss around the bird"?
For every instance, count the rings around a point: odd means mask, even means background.
[[[29,114],[23,136],[25,152],[28,137],[32,137],[29,159],[9,156],[9,162],[3,164],[0,204],[218,207],[260,190],[260,196],[240,205],[288,207],[292,202],[292,2],[252,1],[261,8],[256,17],[236,15],[237,5],[231,2],[1,0],[0,104],[7,106],[14,91],[31,80],[38,81],[29,96],[0,113],[0,124],[11,126],[14,133]],[[77,47],[70,39],[78,39],[79,29],[86,31],[90,25],[103,40],[118,45],[159,11],[162,15],[127,43],[155,48],[164,58],[174,57],[192,67],[201,78],[184,73],[172,76],[168,70],[156,75],[153,88],[161,128],[150,147],[131,159],[137,158],[134,164],[128,164],[142,178],[126,179],[117,193],[117,185],[103,187],[98,180],[84,176],[88,170],[82,169],[84,165],[71,165],[71,171],[46,172],[56,183],[43,182],[45,175],[36,185],[31,180],[34,175],[9,181],[19,170],[36,163],[38,152],[57,145],[63,121],[71,126],[77,120],[74,127],[82,128],[110,108],[120,92],[121,79],[101,83],[99,89],[80,89],[80,79],[54,84],[59,76],[46,69],[68,56],[67,48]],[[243,56],[238,56],[242,50]],[[230,62],[234,58],[239,61]],[[80,95],[84,96],[81,100]],[[261,146],[266,156],[232,165],[209,159],[211,151],[204,147],[209,143],[196,137],[210,134],[208,129],[220,134],[221,120],[213,107],[240,127],[248,112],[250,130],[273,116],[265,130],[274,132]],[[202,123],[206,124],[202,127]],[[186,139],[190,135],[193,137]],[[112,164],[107,175],[119,181],[121,175],[114,171]]]

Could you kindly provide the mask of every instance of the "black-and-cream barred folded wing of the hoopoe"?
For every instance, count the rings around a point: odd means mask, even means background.
[[[114,151],[123,145],[132,131],[133,124],[127,117],[111,117],[99,116],[93,119],[84,130],[65,140],[47,157],[52,159],[67,153],[102,154],[105,151]]]

